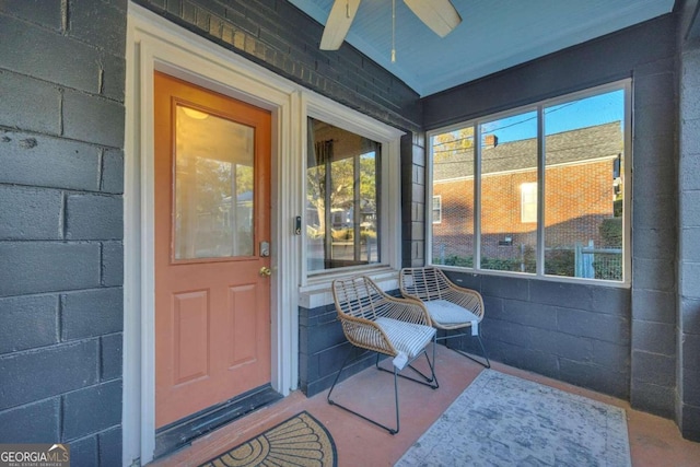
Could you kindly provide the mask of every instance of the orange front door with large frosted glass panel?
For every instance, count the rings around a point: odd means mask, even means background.
[[[155,424],[270,382],[270,113],[156,72]]]

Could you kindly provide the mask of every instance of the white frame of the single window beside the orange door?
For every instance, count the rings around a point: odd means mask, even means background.
[[[382,212],[382,222],[377,235],[380,237],[380,262],[371,265],[357,265],[332,269],[308,270],[305,260],[301,262],[301,285],[303,290],[308,288],[325,287],[331,280],[339,277],[348,277],[358,273],[382,275],[395,273],[400,268],[400,242],[393,242],[400,235],[400,137],[402,131],[360,114],[341,104],[317,95],[302,95],[301,129],[304,136],[302,141],[302,163],[304,177],[300,180],[302,200],[306,201],[307,171],[307,135],[308,117],[336,126],[346,131],[353,132],[363,138],[380,143],[381,176],[377,184],[378,212]],[[305,212],[305,206],[301,212]],[[307,237],[305,215],[302,215],[302,258],[306,257]]]

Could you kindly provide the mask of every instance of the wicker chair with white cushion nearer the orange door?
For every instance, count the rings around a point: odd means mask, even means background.
[[[376,369],[394,373],[396,428],[378,423],[331,399],[332,390],[338,383],[340,374],[352,360],[351,355],[355,353],[353,350],[348,353],[332,382],[327,396],[328,404],[338,406],[387,430],[392,434],[396,434],[399,430],[397,376],[424,384],[433,389],[439,386],[434,370],[436,331],[430,326],[430,316],[420,302],[387,295],[370,278],[364,276],[335,280],[332,282],[332,296],[338,312],[338,319],[342,325],[342,330],[348,341],[357,348],[376,352]],[[431,361],[425,351],[430,342],[433,342],[433,361]],[[393,358],[392,371],[380,365],[380,355]],[[425,375],[411,365],[411,362],[421,355],[425,357],[431,375]],[[405,367],[418,373],[421,380],[399,374]]]

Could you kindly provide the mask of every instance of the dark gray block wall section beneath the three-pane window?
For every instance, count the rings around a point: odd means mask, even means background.
[[[483,296],[481,336],[505,364],[629,398],[630,291],[447,271]],[[452,347],[480,354],[476,339]]]

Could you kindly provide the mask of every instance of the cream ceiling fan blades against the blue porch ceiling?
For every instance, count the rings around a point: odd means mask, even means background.
[[[361,0],[336,0],[330,9],[322,50],[338,50],[350,30]],[[462,16],[450,0],[404,0],[404,3],[440,37],[445,37],[462,23]]]

